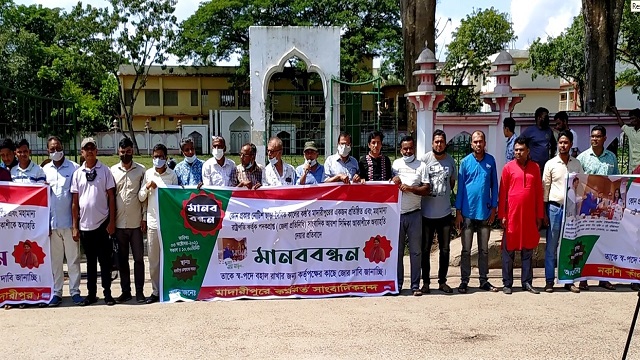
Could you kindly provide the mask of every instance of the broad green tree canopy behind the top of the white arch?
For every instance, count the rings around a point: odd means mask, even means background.
[[[195,65],[240,57],[235,86],[249,84],[249,26],[339,26],[341,77],[363,80],[363,59],[401,47],[399,4],[394,0],[211,0],[180,24],[172,52]]]

